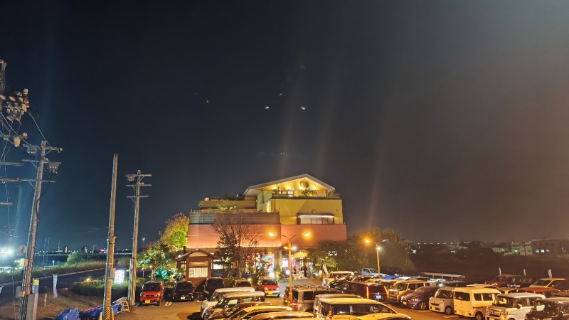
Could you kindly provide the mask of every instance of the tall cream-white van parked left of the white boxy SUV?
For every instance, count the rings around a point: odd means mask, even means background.
[[[454,288],[454,314],[459,318],[468,316],[477,320],[484,320],[486,307],[491,306],[499,290],[484,287],[458,287]]]

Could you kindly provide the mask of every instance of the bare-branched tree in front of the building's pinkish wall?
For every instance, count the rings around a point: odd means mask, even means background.
[[[217,213],[211,228],[219,235],[218,251],[226,270],[237,269],[243,274],[247,262],[255,256],[255,247],[260,240],[260,230],[243,221],[240,213]]]

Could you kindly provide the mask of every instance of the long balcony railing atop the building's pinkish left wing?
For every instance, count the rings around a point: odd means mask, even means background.
[[[196,210],[190,213],[191,225],[211,225],[218,215],[233,215],[236,223],[247,225],[278,225],[280,216],[277,212],[269,213],[215,213],[206,210]]]

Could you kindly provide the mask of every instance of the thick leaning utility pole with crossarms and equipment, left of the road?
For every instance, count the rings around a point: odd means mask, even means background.
[[[40,159],[38,161],[38,171],[36,174],[36,192],[33,196],[33,204],[31,208],[31,220],[30,220],[30,231],[28,233],[28,250],[26,252],[26,260],[24,260],[24,272],[22,277],[22,287],[21,287],[21,304],[18,320],[28,320],[35,319],[36,315],[36,304],[33,303],[28,306],[28,298],[31,293],[31,274],[33,271],[33,255],[36,252],[36,234],[38,232],[38,212],[40,208],[40,198],[41,198],[41,183],[43,178],[43,166],[48,163],[48,170],[50,174],[56,174],[58,171],[59,162],[49,162],[46,158],[46,154],[50,151],[61,152],[63,149],[55,148],[53,146],[46,146],[47,142],[43,140],[41,142]],[[37,151],[37,146],[26,145],[28,152],[32,153],[34,150]],[[37,292],[36,292],[37,294]],[[37,302],[37,298],[34,298]],[[28,311],[32,314],[28,315]]]

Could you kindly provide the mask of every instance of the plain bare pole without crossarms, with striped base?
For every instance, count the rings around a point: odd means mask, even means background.
[[[107,239],[107,265],[105,267],[105,298],[102,302],[104,320],[110,320],[112,316],[111,289],[112,279],[115,278],[115,202],[117,200],[117,164],[119,154],[112,159],[112,184],[111,184],[111,208],[109,217],[109,238]],[[112,316],[112,319],[115,319]]]

